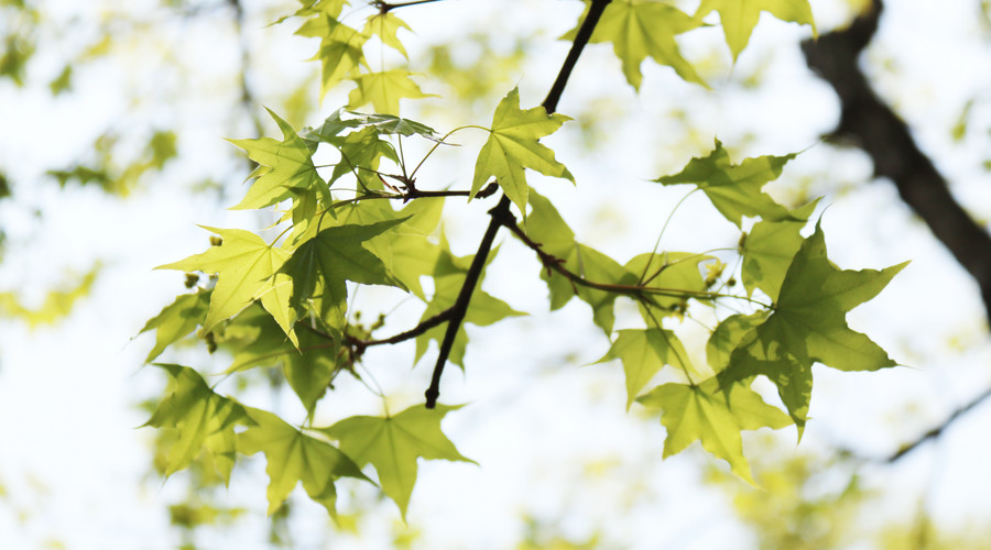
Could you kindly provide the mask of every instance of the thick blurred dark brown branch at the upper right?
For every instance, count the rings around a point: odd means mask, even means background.
[[[848,29],[802,45],[809,68],[835,89],[842,103],[836,138],[853,142],[874,163],[874,174],[891,179],[899,195],[974,278],[991,319],[991,235],[963,210],[946,179],[923,153],[905,122],[871,89],[858,66],[861,51],[878,29],[882,2]]]

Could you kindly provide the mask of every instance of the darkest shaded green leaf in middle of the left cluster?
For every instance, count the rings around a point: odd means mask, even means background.
[[[292,278],[292,302],[302,308],[320,289],[320,318],[329,327],[339,329],[347,311],[348,292],[345,280],[402,287],[382,261],[362,243],[403,221],[405,219],[370,226],[349,223],[330,227],[305,241],[281,270],[281,273]]]

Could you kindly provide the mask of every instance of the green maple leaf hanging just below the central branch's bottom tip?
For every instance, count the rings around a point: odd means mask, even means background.
[[[416,459],[475,463],[458,452],[440,431],[440,420],[458,406],[415,405],[395,416],[353,416],[318,431],[340,442],[359,465],[371,463],[382,491],[400,507],[403,520],[416,483]]]

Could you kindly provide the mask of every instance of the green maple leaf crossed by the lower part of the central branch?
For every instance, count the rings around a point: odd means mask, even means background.
[[[498,250],[493,250],[489,254],[487,265],[494,260],[497,253]],[[465,275],[468,273],[468,266],[471,264],[473,257],[473,255],[456,257],[448,250],[447,242],[442,241],[437,254],[437,262],[433,270],[434,296],[431,297],[431,301],[423,312],[421,322],[455,305],[458,294],[461,292],[461,286],[465,283]],[[509,304],[482,290],[481,284],[483,279],[484,270],[479,276],[478,287],[471,295],[471,301],[468,302],[468,310],[465,312],[465,319],[461,322],[461,326],[458,327],[458,332],[455,334],[450,355],[448,356],[448,361],[461,369],[465,369],[465,352],[468,348],[468,332],[465,330],[466,324],[471,323],[478,327],[488,327],[507,317],[526,315],[522,311],[516,311],[510,307]],[[431,341],[436,341],[439,345],[440,342],[444,341],[445,332],[447,332],[447,324],[442,323],[416,337],[416,354],[413,363],[417,363],[423,358],[429,348]]]

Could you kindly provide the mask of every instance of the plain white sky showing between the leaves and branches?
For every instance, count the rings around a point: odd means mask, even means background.
[[[415,59],[421,41],[457,38],[486,24],[519,30],[520,24],[536,26],[544,19],[560,21],[547,31],[546,42],[534,47],[534,63],[519,75],[524,107],[536,105],[567,50],[567,44],[549,38],[570,29],[578,4],[518,3],[526,4],[533,16],[520,22],[507,15],[512,10],[505,2],[467,0],[404,10],[400,15],[417,32],[406,37],[406,46]],[[829,3],[813,0],[824,30],[836,20]],[[880,89],[917,129],[916,136],[926,151],[938,161],[947,160],[939,166],[956,183],[958,196],[979,218],[987,219],[991,216],[989,178],[978,168],[981,155],[988,154],[987,148],[981,150],[988,141],[973,136],[987,135],[987,95],[982,107],[974,109],[977,116],[983,116],[983,125],[976,125],[962,146],[949,140],[949,128],[959,113],[955,109],[962,107],[963,99],[991,89],[989,72],[976,69],[991,66],[987,42],[979,40],[976,2],[945,2],[936,12],[923,0],[889,3],[870,58],[878,62],[874,66],[892,64],[897,74],[882,75]],[[279,70],[317,70],[316,64],[284,61],[308,57],[314,48],[312,42],[291,38],[293,29],[290,22],[252,30],[251,35],[288,44],[271,58],[264,56],[265,61],[282,59]],[[207,41],[210,32],[228,31],[207,25],[183,28],[175,30],[171,40],[184,54],[216,64],[220,82],[222,67],[233,62],[236,53],[195,48],[197,40]],[[590,47],[559,110],[577,112],[586,98],[611,90],[646,114],[611,135],[603,153],[593,157],[574,146],[577,131],[566,125],[551,143],[576,174],[578,189],[548,179],[536,180],[537,189],[553,197],[582,242],[621,261],[649,250],[685,190],[661,189],[643,179],[677,170],[693,154],[705,154],[716,134],[727,146],[738,147],[734,160],[739,161],[743,155],[805,150],[831,128],[836,100],[825,84],[808,77],[793,45],[796,36],[807,32],[765,18],[752,38],[752,50],[743,53],[731,75],[712,82],[712,94],[646,62],[638,97],[624,84],[609,47]],[[706,44],[719,40],[715,30],[697,34],[683,42],[686,55],[700,55]],[[774,53],[774,63],[766,68],[766,86],[760,94],[741,92],[733,78],[752,72],[762,52]],[[966,62],[950,63],[959,58]],[[58,68],[51,70],[57,74]],[[115,94],[119,86],[106,82],[145,81],[146,74],[129,70],[133,67],[97,67],[94,75],[80,76],[80,98],[54,102],[43,90],[17,92],[9,84],[0,84],[0,165],[13,179],[20,176],[32,182],[41,167],[72,161],[89,139],[92,130],[87,128],[126,112],[121,97]],[[280,81],[258,73],[255,80],[263,98],[274,95]],[[424,80],[424,89],[432,91],[428,80]],[[154,99],[156,91],[150,89],[149,94]],[[149,100],[152,118],[153,99]],[[230,131],[230,119],[242,113],[227,107],[230,112],[218,117],[222,111],[217,106],[230,105],[230,98],[215,100],[189,103],[184,111],[197,117],[178,129],[181,135],[194,135],[184,142],[183,151],[194,161],[186,168],[170,168],[162,182],[126,201],[88,189],[58,190],[54,184],[19,186],[15,193],[24,197],[24,204],[44,208],[43,226],[33,224],[23,211],[0,206],[11,238],[30,238],[33,243],[30,251],[11,251],[3,258],[3,288],[21,287],[31,295],[57,280],[66,266],[83,271],[92,257],[109,264],[94,295],[62,323],[34,332],[14,322],[0,323],[0,484],[8,492],[0,499],[0,548],[36,548],[46,540],[62,540],[73,549],[164,549],[177,543],[167,529],[164,507],[177,496],[179,484],[143,481],[151,433],[133,429],[145,420],[133,404],[150,395],[164,375],[138,366],[152,339],[130,339],[182,292],[181,274],[151,268],[202,251],[206,233],[196,223],[258,227],[253,215],[222,211],[213,196],[188,193],[194,176],[207,173],[222,178],[225,170],[232,169],[229,164],[211,165],[211,154],[229,147],[220,138]],[[325,112],[336,105],[333,97],[327,98]],[[695,134],[679,133],[665,121],[673,107],[688,111]],[[455,125],[451,121],[424,122],[435,128]],[[488,123],[489,119],[468,122]],[[271,128],[269,135],[276,135]],[[466,134],[465,148],[470,139]],[[462,154],[470,158],[460,173],[470,174],[473,156]],[[871,334],[913,369],[869,374],[818,370],[814,420],[798,450],[840,444],[884,455],[991,385],[987,369],[991,349],[973,285],[911,218],[893,187],[886,183],[838,185],[858,183],[869,175],[869,164],[858,154],[813,147],[785,170],[784,185],[777,189],[787,194],[789,176],[812,174],[823,166],[829,166],[830,174],[814,182],[813,188],[823,193],[845,189],[825,200],[829,208],[823,223],[830,256],[847,268],[913,260],[878,299],[851,315],[854,329]],[[425,173],[421,180],[433,177],[446,184],[449,172],[445,165]],[[636,200],[627,200],[631,196]],[[471,205],[469,216],[448,223],[457,253],[473,252],[486,224],[480,221],[484,205]],[[455,210],[451,200],[446,212]],[[675,215],[671,231],[664,246],[675,250],[695,250],[714,242],[726,245],[726,239],[736,239],[700,201],[689,200]],[[445,373],[442,399],[471,403],[451,413],[445,429],[459,450],[481,466],[421,462],[409,520],[423,531],[423,548],[503,548],[519,539],[521,513],[560,520],[562,530],[576,538],[602,527],[623,547],[740,548],[741,540],[748,540],[745,531],[716,493],[695,481],[695,465],[711,459],[696,450],[660,461],[664,430],[656,422],[638,422],[625,416],[621,369],[577,366],[597,360],[608,349],[607,340],[592,327],[587,307],[575,302],[548,316],[544,311],[546,289],[531,280],[536,268],[531,254],[504,235],[501,242],[505,246],[489,271],[486,289],[533,316],[469,329],[472,341],[467,375],[454,367]],[[33,274],[39,274],[37,284]],[[391,327],[402,330],[415,322],[418,312],[414,309],[400,309]],[[954,337],[962,338],[966,348],[949,351],[947,341]],[[412,353],[412,346],[395,346],[369,354],[372,372],[382,373],[377,376],[380,382],[399,373],[393,383],[404,385],[394,388],[399,408],[420,398],[422,381],[428,376],[429,364],[409,371]],[[327,400],[331,399],[337,403],[339,398],[335,395]],[[340,418],[338,413],[380,413],[373,399],[335,403],[322,410],[328,424]],[[930,444],[896,466],[879,466],[872,472],[867,482],[887,491],[879,515],[914,517],[918,499],[928,491],[927,508],[939,521],[987,520],[991,474],[982,460],[988,455],[982,440],[989,420],[991,411],[983,406],[959,420],[938,447]],[[793,438],[793,430],[785,431]],[[575,457],[591,458],[603,473],[589,484],[584,462]],[[643,475],[642,487],[631,491],[633,476]],[[252,514],[263,514],[265,483],[257,469],[244,469],[232,480],[231,499],[250,506]],[[633,506],[617,514],[624,501],[632,501]],[[326,516],[305,498],[300,503],[298,548],[315,548],[304,542],[328,536],[323,529]],[[24,521],[18,520],[20,513]],[[381,514],[362,526],[368,539],[361,543],[335,540],[334,546],[388,548],[389,536],[383,531],[398,518],[395,507],[384,503]],[[206,548],[263,548],[263,532],[264,524],[259,520],[253,530],[240,531],[238,539],[203,542]]]

